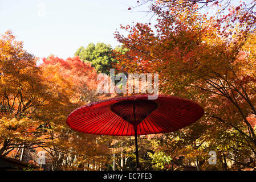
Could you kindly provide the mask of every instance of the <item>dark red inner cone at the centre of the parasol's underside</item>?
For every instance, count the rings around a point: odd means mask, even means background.
[[[136,127],[158,106],[159,104],[156,101],[135,99],[116,102],[110,106],[110,109],[113,113]]]

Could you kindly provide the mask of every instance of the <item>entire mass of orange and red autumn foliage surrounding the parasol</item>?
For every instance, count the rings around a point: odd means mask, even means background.
[[[35,162],[43,150],[51,170],[135,169],[133,138],[87,135],[66,125],[77,107],[116,97],[96,92],[97,74],[115,68],[159,73],[160,93],[205,110],[182,130],[141,136],[141,169],[255,170],[256,1],[144,2],[152,3],[156,22],[121,25],[115,38],[122,46],[113,50],[89,44],[75,57],[50,55],[36,65],[39,59],[10,31],[1,36],[0,156],[33,150]],[[209,151],[216,152],[216,165],[208,163]]]

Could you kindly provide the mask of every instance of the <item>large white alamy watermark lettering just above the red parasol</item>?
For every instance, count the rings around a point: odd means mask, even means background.
[[[153,80],[153,81],[152,81]],[[156,100],[159,95],[159,74],[158,73],[124,73],[115,74],[115,69],[110,69],[110,77],[105,73],[97,76],[97,92],[102,93],[148,93],[149,100]],[[117,84],[115,84],[116,81]],[[128,88],[127,88],[128,86]]]

